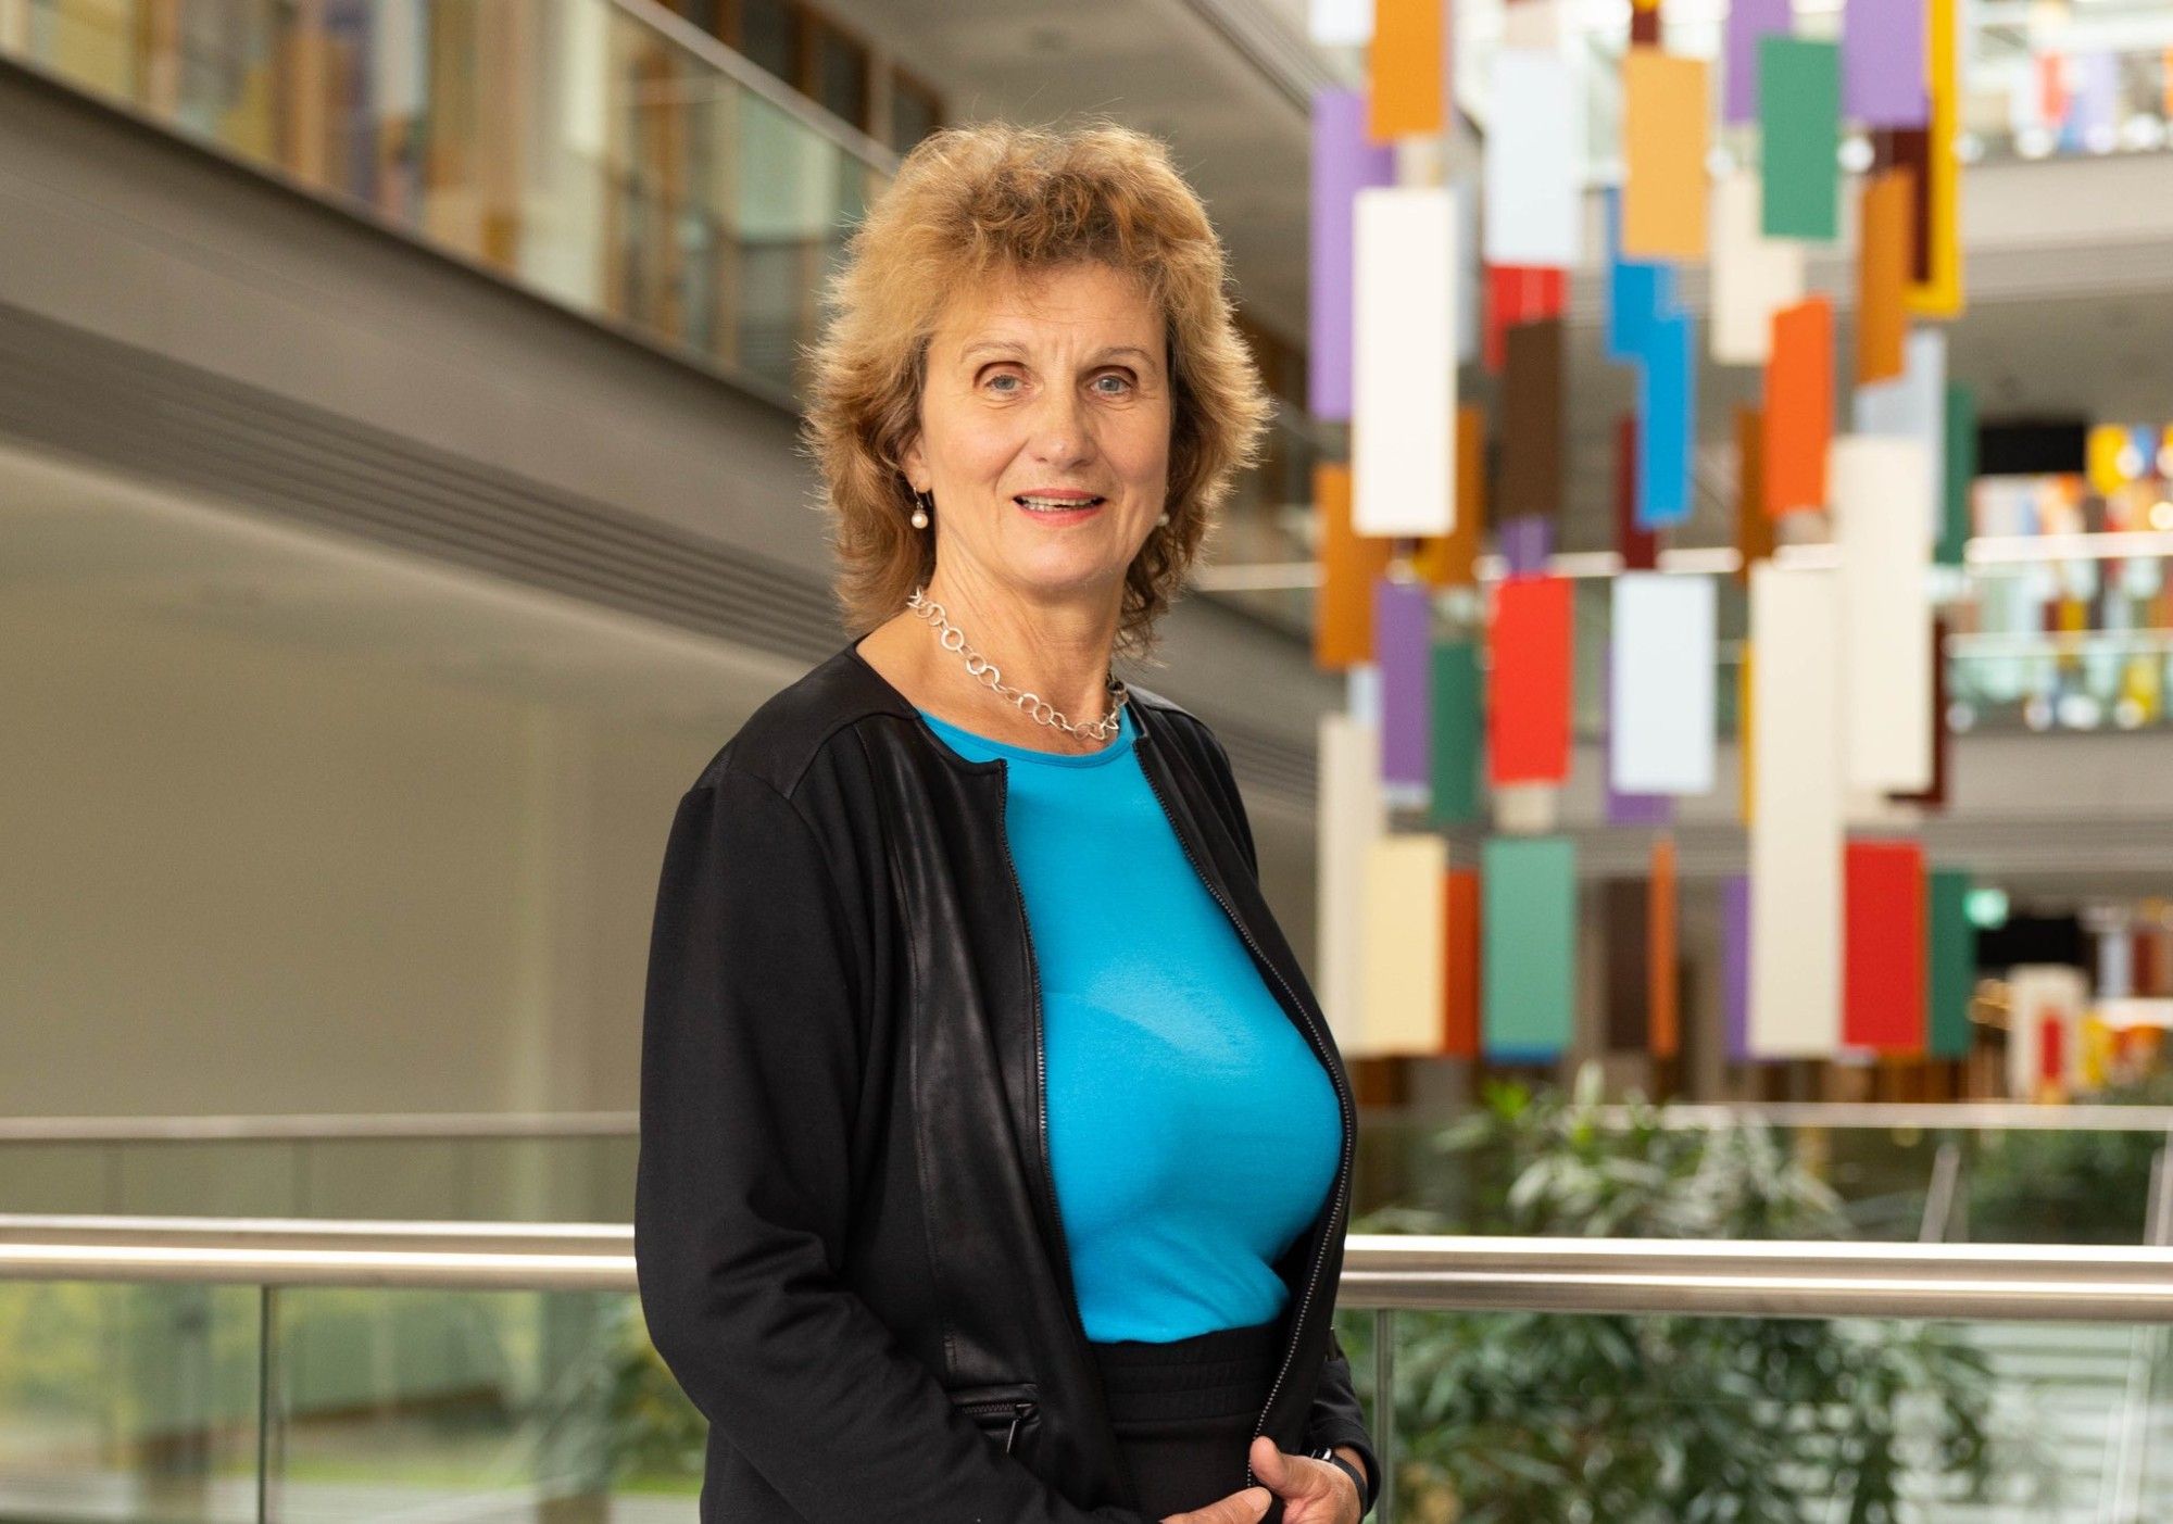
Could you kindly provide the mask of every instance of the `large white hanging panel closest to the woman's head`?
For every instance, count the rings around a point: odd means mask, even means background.
[[[1456,198],[1358,191],[1352,334],[1352,528],[1456,528]]]

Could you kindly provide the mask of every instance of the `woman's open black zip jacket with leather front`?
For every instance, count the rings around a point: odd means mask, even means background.
[[[1130,693],[1147,782],[1343,1112],[1334,1190],[1278,1263],[1258,1431],[1356,1446],[1378,1491],[1332,1329],[1349,1077],[1221,742]],[[847,645],[687,790],[656,894],[635,1259],[650,1337],[711,1422],[704,1522],[1145,1520],[1071,1294],[1043,1081],[1004,762],[945,747]],[[1230,1491],[1252,1483],[1232,1457]]]

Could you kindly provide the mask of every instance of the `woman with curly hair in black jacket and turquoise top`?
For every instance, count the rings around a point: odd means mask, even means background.
[[[808,443],[865,636],[671,823],[635,1255],[732,1524],[1356,1524],[1356,1112],[1152,649],[1269,402],[1160,143],[939,132]]]

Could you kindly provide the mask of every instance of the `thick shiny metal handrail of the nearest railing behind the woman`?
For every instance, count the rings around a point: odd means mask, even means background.
[[[632,1292],[626,1224],[0,1216],[0,1281]],[[1354,1233],[1352,1309],[2173,1322],[2173,1248]]]

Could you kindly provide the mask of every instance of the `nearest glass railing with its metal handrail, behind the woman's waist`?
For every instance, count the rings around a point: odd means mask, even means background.
[[[1336,1311],[1399,1524],[2169,1517],[2169,1322],[2156,1248],[1393,1235]],[[0,1350],[9,1522],[700,1485],[624,1227],[0,1218]]]

